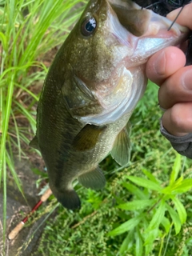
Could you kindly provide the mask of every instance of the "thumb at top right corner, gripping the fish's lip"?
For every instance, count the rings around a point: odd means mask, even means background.
[[[173,10],[170,12],[170,14],[167,14],[166,17],[170,20],[174,20],[174,18],[177,17],[179,11],[181,8],[178,8],[176,10]],[[192,3],[184,6],[181,14],[179,14],[176,22],[182,26],[187,26],[190,30],[192,30]]]

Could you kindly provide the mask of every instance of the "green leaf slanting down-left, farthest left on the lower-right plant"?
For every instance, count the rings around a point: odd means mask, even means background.
[[[108,236],[115,236],[118,234],[125,233],[126,231],[132,230],[138,223],[142,220],[142,214],[138,215],[137,217],[130,218],[129,221],[124,222],[122,225],[118,226],[116,229],[110,231],[107,235]]]

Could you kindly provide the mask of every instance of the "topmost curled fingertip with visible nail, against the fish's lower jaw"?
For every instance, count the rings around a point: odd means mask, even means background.
[[[182,50],[170,46],[158,51],[146,63],[146,76],[160,86],[171,74],[185,66],[186,57]]]

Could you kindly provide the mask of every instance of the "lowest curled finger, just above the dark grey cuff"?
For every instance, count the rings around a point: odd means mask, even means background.
[[[175,104],[162,116],[162,126],[174,136],[192,133],[192,102]]]

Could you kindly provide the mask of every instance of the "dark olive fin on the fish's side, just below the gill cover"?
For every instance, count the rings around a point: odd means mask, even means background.
[[[86,125],[74,138],[72,143],[75,150],[84,151],[91,150],[98,142],[98,138],[106,126]]]

